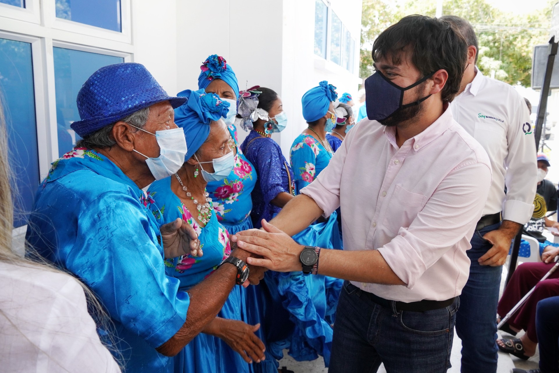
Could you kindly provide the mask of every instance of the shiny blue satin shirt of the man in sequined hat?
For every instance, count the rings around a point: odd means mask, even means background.
[[[110,159],[75,148],[53,163],[35,196],[27,240],[41,256],[80,278],[114,330],[125,372],[170,372],[155,348],[186,320],[190,297],[165,273],[149,197]]]

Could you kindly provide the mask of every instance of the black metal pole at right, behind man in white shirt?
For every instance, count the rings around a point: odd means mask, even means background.
[[[536,139],[536,152],[539,148],[539,139],[542,137],[543,122],[546,119],[547,110],[547,97],[549,95],[549,85],[551,84],[551,75],[553,73],[553,63],[555,62],[555,55],[557,54],[557,43],[555,43],[555,36],[549,39],[547,55],[546,73],[543,76],[542,90],[539,93],[538,117],[536,118],[536,128],[534,129],[534,138]],[[526,131],[531,130],[530,124]],[[524,128],[523,128],[524,129]],[[509,283],[510,277],[517,269],[518,251],[520,250],[520,240],[522,239],[522,229],[520,228],[517,236],[514,238],[513,252],[510,254],[509,272],[506,274],[506,284]]]

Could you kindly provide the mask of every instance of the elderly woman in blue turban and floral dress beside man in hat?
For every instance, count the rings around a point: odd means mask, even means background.
[[[182,218],[200,238],[203,256],[165,259],[167,274],[178,278],[179,290],[186,291],[209,277],[231,252],[228,231],[217,219],[206,186],[228,177],[235,157],[221,119],[229,103],[203,89],[187,89],[178,96],[187,98],[176,108],[175,122],[184,132],[188,151],[182,167],[152,183],[148,193],[159,224]],[[235,286],[217,317],[177,355],[175,372],[253,371],[249,363],[264,358],[264,345],[254,334],[259,325],[241,321],[246,313],[241,294],[241,287]]]

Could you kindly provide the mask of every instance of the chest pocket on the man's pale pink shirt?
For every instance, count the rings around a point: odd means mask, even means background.
[[[396,185],[388,202],[382,224],[390,232],[398,234],[401,227],[409,228],[411,222],[425,206],[425,202],[427,202],[427,197],[424,195],[407,191],[400,185]]]

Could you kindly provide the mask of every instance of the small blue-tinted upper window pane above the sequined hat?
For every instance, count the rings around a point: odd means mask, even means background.
[[[121,32],[120,0],[56,0],[56,17]]]

